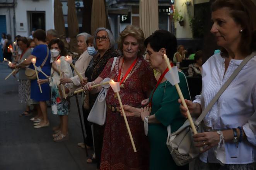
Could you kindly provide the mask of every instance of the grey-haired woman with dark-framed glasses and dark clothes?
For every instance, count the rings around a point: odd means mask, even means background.
[[[85,79],[86,83],[94,81],[99,74],[103,71],[104,67],[106,66],[108,60],[112,57],[118,57],[119,54],[114,51],[114,37],[110,30],[100,27],[98,28],[94,33],[94,48],[95,53],[98,51],[98,54],[94,56],[92,61],[90,62],[87,70],[85,71]],[[93,55],[93,54],[92,54]],[[87,121],[87,117],[90,113],[90,109],[92,108],[94,102],[96,101],[96,98],[98,96],[98,93],[92,94],[89,93],[89,109],[85,109],[84,119],[85,119],[85,126],[89,124]],[[101,163],[101,149],[102,149],[102,141],[103,141],[103,133],[104,133],[104,127],[94,124],[94,149],[95,149],[95,161],[94,158],[90,158],[87,160],[88,163],[91,162],[97,162],[97,168],[99,168],[99,165]]]

